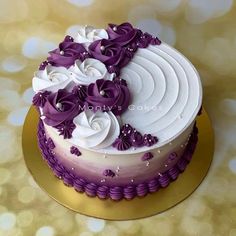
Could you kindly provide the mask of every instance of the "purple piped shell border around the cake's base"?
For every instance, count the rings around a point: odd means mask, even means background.
[[[148,193],[154,193],[160,188],[167,187],[170,182],[176,180],[181,172],[183,172],[190,162],[198,141],[198,129],[196,125],[193,128],[192,135],[189,143],[186,146],[184,154],[171,169],[164,173],[160,173],[158,177],[138,185],[129,184],[125,187],[113,186],[108,187],[105,185],[97,185],[89,183],[85,179],[75,176],[67,170],[62,164],[59,163],[54,155],[52,149],[48,147],[47,138],[44,131],[43,122],[40,121],[38,125],[38,144],[43,155],[44,160],[47,161],[49,167],[54,172],[55,176],[63,180],[67,186],[73,186],[78,192],[85,192],[90,197],[99,197],[101,199],[111,198],[112,200],[119,201],[123,198],[130,200],[136,196],[143,197]]]

